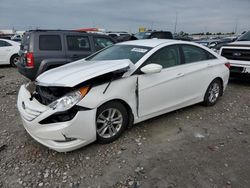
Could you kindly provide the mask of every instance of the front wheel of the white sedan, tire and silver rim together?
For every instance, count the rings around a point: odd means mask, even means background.
[[[107,144],[121,136],[128,125],[128,111],[120,102],[108,102],[97,109],[97,142]]]

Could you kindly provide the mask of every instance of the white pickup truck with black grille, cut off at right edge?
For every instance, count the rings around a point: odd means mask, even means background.
[[[250,31],[240,36],[235,42],[221,47],[219,54],[226,57],[232,76],[250,75]]]

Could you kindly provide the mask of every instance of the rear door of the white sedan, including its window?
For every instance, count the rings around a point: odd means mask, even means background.
[[[181,49],[184,59],[181,67],[186,83],[185,101],[201,101],[213,79],[213,68],[218,65],[218,59],[198,46],[182,44]]]

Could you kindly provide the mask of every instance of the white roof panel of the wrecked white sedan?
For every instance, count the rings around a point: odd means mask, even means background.
[[[117,45],[137,45],[137,46],[146,46],[146,47],[156,47],[161,44],[166,43],[178,43],[178,40],[169,40],[169,39],[142,39],[142,40],[132,40],[126,41],[122,43],[118,43]]]

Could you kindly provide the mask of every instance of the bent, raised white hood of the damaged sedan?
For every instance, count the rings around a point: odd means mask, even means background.
[[[129,59],[107,61],[78,60],[51,69],[37,77],[37,85],[74,87],[91,78],[132,66]]]

